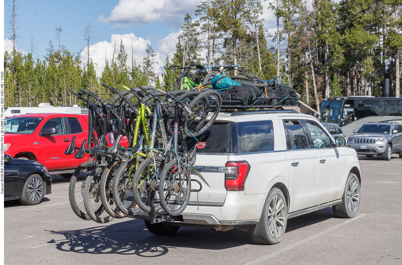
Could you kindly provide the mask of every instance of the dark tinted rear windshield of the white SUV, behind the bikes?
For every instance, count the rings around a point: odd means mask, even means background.
[[[197,153],[229,153],[229,122],[214,122],[197,139],[205,142],[205,147],[197,149]],[[191,137],[186,143],[187,149],[191,150],[197,142]]]

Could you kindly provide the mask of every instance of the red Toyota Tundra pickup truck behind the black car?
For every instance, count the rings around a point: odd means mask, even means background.
[[[88,115],[25,114],[7,118],[4,125],[4,153],[17,159],[38,161],[52,175],[70,177],[81,163],[88,161],[89,154],[82,159],[64,154],[73,136],[77,147],[88,138]],[[57,134],[42,135],[48,127],[56,128]]]

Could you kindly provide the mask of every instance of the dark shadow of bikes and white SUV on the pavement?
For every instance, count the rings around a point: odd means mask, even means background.
[[[66,239],[47,243],[54,243],[59,251],[141,257],[159,257],[176,248],[220,250],[255,244],[248,232],[237,229],[212,232],[209,227],[182,226],[172,236],[157,236],[142,220],[112,222],[82,230],[49,231],[63,234]]]

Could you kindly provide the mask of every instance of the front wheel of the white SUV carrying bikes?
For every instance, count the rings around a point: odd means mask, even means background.
[[[360,183],[357,176],[349,173],[343,192],[342,202],[332,206],[335,216],[340,218],[353,218],[360,204]]]

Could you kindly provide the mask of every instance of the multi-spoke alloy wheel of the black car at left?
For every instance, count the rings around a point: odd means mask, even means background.
[[[45,185],[43,179],[38,174],[32,174],[25,181],[23,194],[20,199],[21,204],[24,205],[35,205],[39,204],[43,196],[45,196]]]

